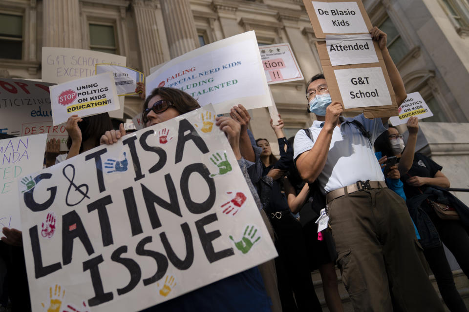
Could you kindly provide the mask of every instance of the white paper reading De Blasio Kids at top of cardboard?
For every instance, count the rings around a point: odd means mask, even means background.
[[[367,33],[357,2],[312,1],[322,32],[326,34]]]

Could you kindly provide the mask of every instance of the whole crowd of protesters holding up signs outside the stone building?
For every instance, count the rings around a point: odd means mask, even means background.
[[[370,33],[401,104],[406,92],[386,34],[376,27]],[[144,95],[145,86],[139,83],[136,92]],[[200,107],[172,88],[158,87],[142,98],[146,127]],[[469,276],[469,210],[447,191],[443,168],[415,153],[417,118],[406,124],[405,144],[388,118],[343,117],[322,74],[308,81],[306,98],[316,117],[310,128],[287,139],[280,115],[270,121],[278,158],[274,142],[253,137],[242,105],[215,123],[233,149],[278,257],[144,311],[322,311],[311,275],[319,270],[328,310],[341,312],[337,266],[355,311],[445,311],[431,270],[448,309],[467,312],[442,243]],[[68,152],[61,154],[60,142],[49,141],[45,166],[126,135],[122,124],[113,128],[107,113],[71,116],[66,130]],[[328,226],[318,233],[316,221],[326,215]],[[31,311],[22,234],[2,232],[0,312],[6,306]]]

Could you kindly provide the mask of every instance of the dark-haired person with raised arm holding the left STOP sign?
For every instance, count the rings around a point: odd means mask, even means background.
[[[68,117],[65,129],[68,132],[68,154],[57,156],[55,163],[99,146],[100,137],[106,131],[112,130],[113,127],[109,114],[102,113],[88,117],[72,115]]]

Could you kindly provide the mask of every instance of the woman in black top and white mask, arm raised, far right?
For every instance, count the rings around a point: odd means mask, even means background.
[[[448,248],[456,256],[460,266],[464,267],[464,273],[468,275],[469,253],[467,250],[469,236],[467,228],[460,221],[440,219],[433,209],[428,207],[425,200],[419,204],[420,207],[411,204],[414,201],[414,196],[421,195],[421,191],[424,191],[427,186],[449,187],[449,181],[441,173],[441,166],[420,153],[414,154],[418,133],[417,117],[409,118],[407,129],[409,137],[406,145],[404,145],[399,130],[396,127],[389,127],[376,139],[374,143],[375,151],[381,153],[377,156],[382,156],[380,163],[384,163],[389,156],[396,156],[400,159],[398,166],[400,179],[389,178],[388,176],[386,177],[386,184],[406,199],[410,216],[418,230],[418,238],[424,248],[426,261],[435,275],[438,289],[448,309],[451,312],[467,312],[464,301],[454,284],[453,274],[443,245],[438,238],[438,234],[440,234],[445,244],[448,242]],[[425,178],[422,176],[425,176]],[[435,178],[436,181],[433,180]],[[422,183],[420,183],[421,181]],[[428,231],[430,228],[433,230]],[[436,231],[438,231],[438,234],[435,235]]]

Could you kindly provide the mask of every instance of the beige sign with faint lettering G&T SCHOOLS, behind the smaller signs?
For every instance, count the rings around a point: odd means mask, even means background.
[[[126,66],[126,57],[105,52],[43,47],[43,81],[62,83],[96,75],[96,64],[107,63]],[[113,118],[124,117],[125,97],[119,98],[119,110],[109,111]]]

